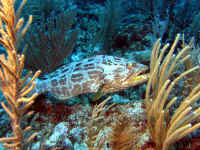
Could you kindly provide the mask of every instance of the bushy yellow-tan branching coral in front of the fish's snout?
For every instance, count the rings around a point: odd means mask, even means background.
[[[150,79],[146,89],[147,124],[151,138],[159,150],[168,150],[173,143],[200,127],[200,123],[194,123],[200,117],[200,107],[193,108],[200,98],[200,84],[193,88],[170,116],[170,108],[177,100],[177,97],[170,98],[174,86],[186,75],[199,69],[199,66],[190,68],[170,81],[177,66],[190,59],[187,55],[190,46],[185,46],[173,56],[179,37],[180,35],[177,35],[166,57],[164,54],[169,45],[166,44],[160,49],[161,44],[158,40],[151,57]]]

